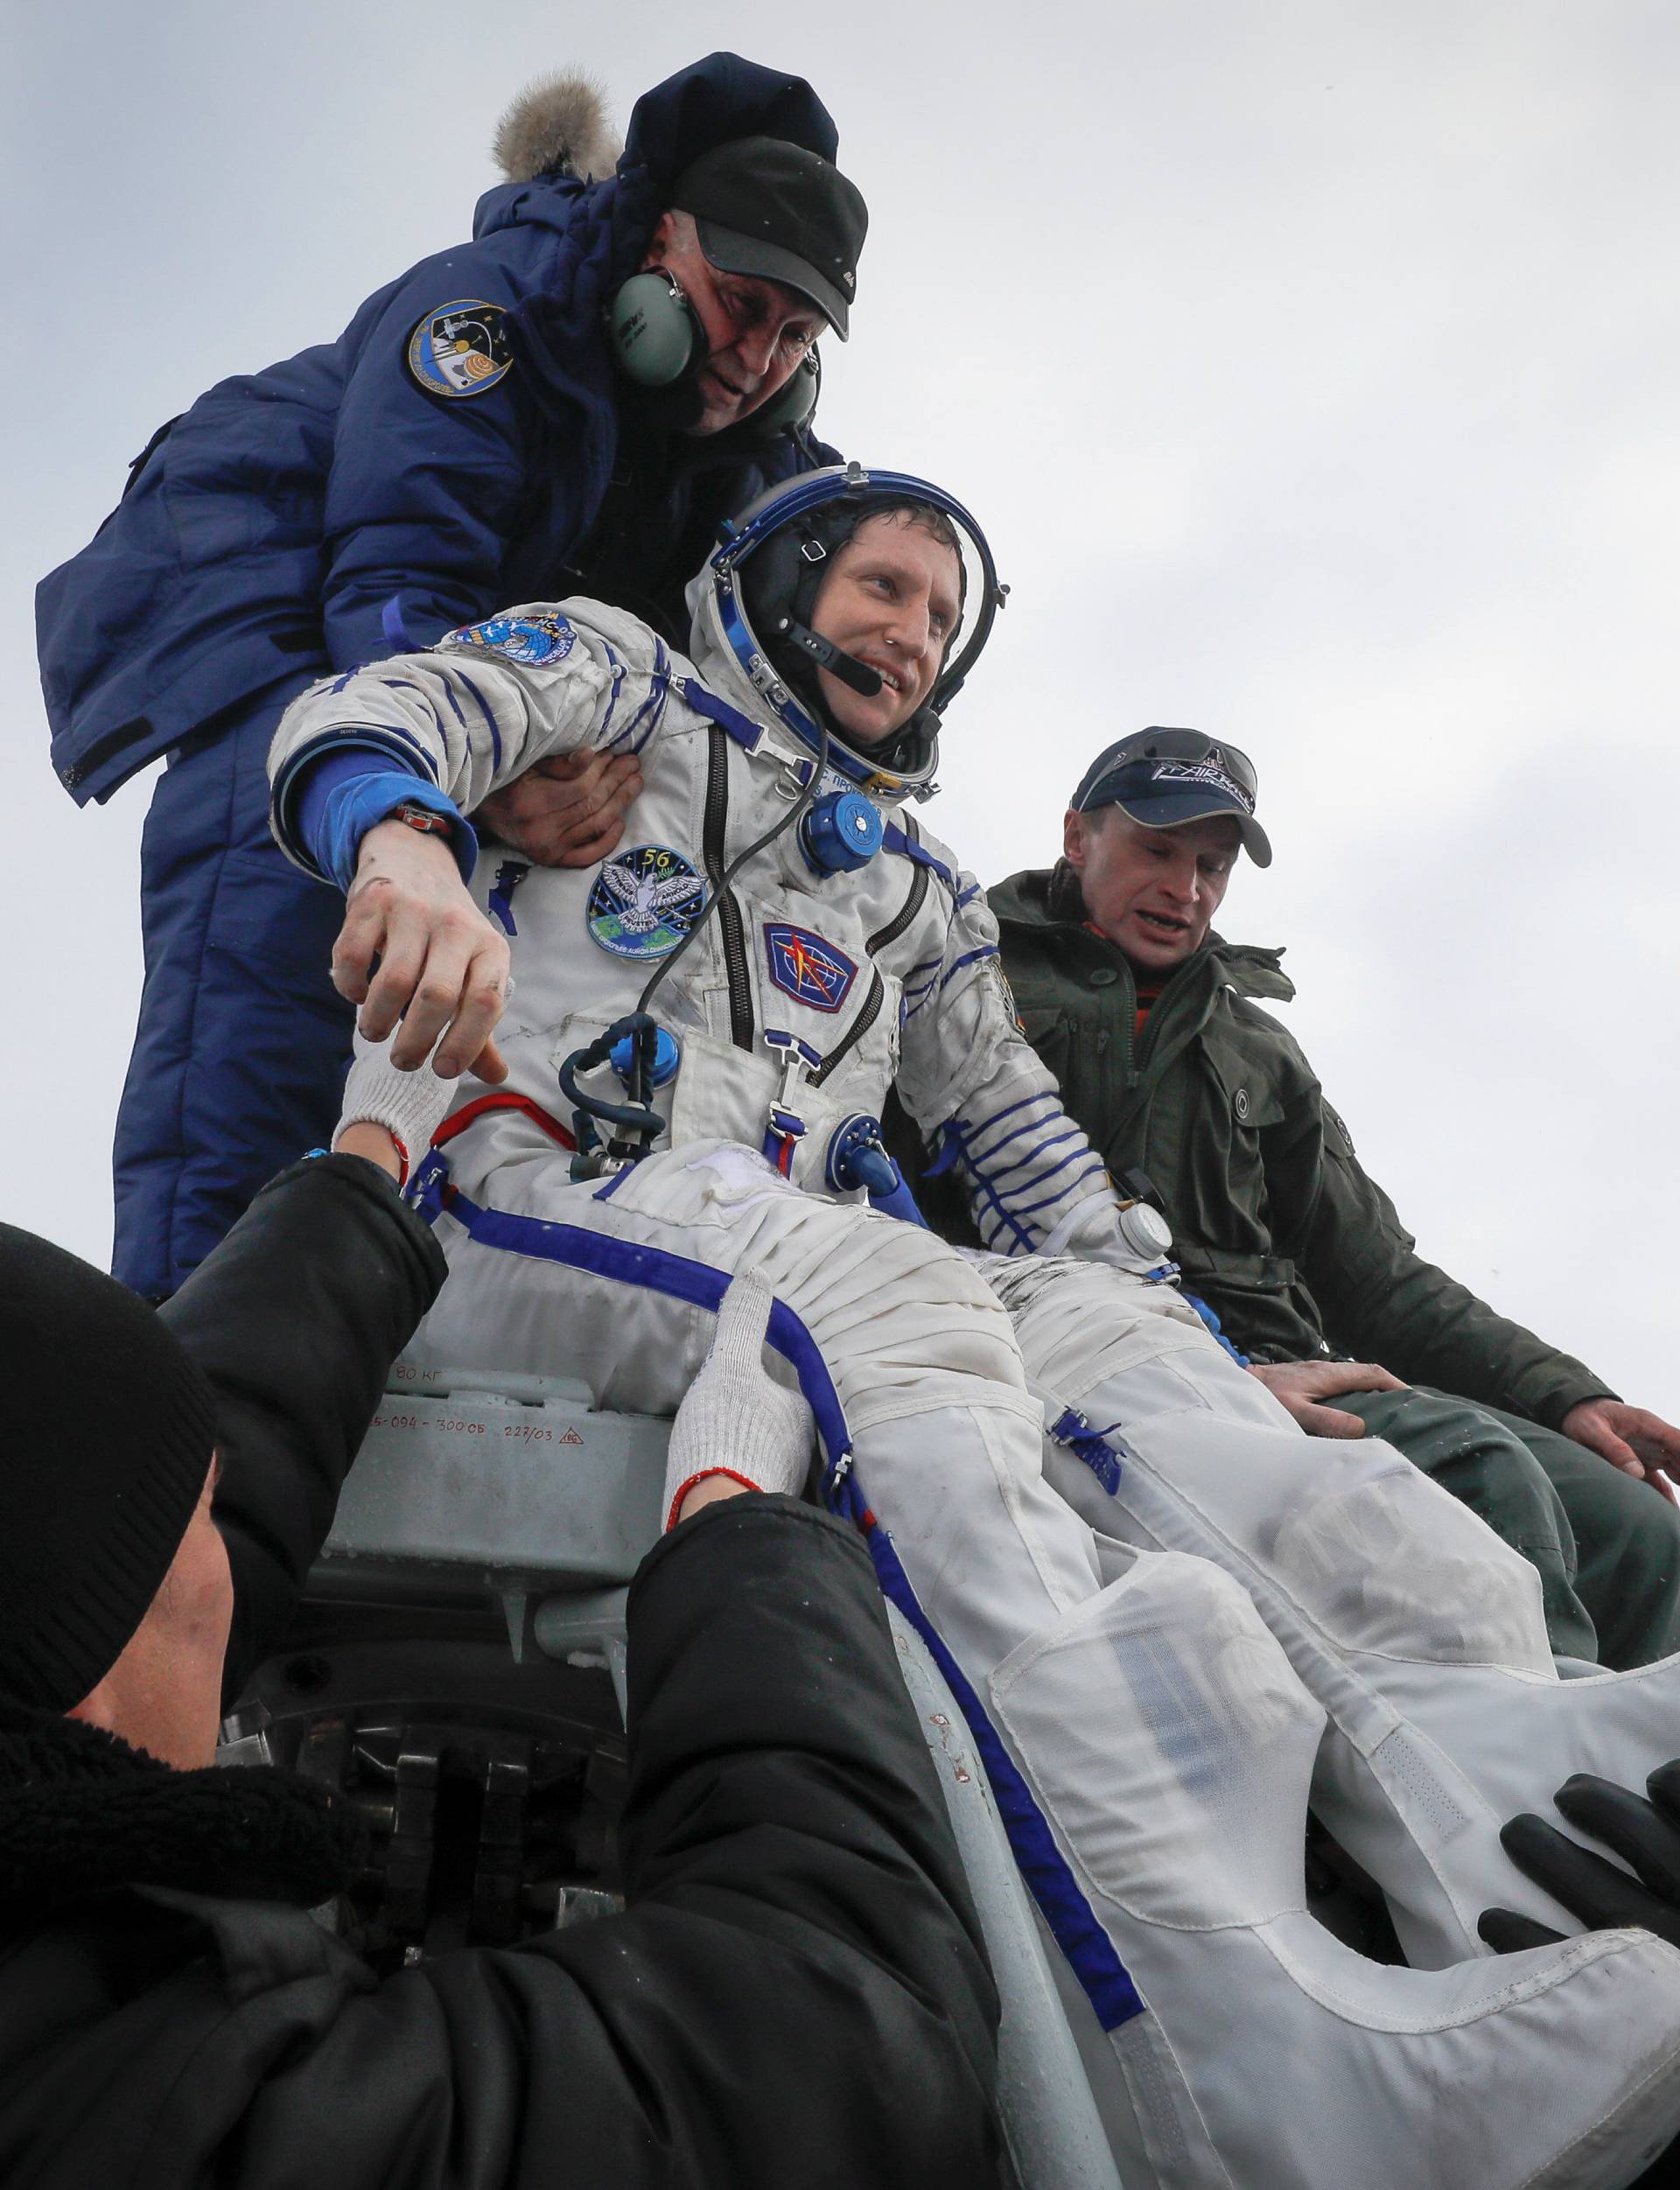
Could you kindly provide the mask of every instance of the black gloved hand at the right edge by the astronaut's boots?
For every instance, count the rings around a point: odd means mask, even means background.
[[[1636,1877],[1581,1848],[1544,1818],[1511,1818],[1498,1837],[1516,1868],[1544,1886],[1590,1932],[1643,1925],[1680,1947],[1680,1759],[1658,1765],[1645,1789],[1649,1800],[1577,1772],[1555,1796],[1564,1818],[1612,1848]],[[1514,1910],[1483,1910],[1476,1929],[1496,1953],[1546,1947],[1562,1938],[1562,1932]]]

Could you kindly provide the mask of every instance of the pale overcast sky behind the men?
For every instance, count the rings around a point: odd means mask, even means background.
[[[1045,863],[1091,751],[1259,764],[1286,1012],[1424,1253],[1680,1415],[1680,11],[1660,0],[7,9],[4,1213],[103,1259],[147,786],[46,764],[31,591],[151,429],[471,228],[523,81],[813,79],[872,206],[821,425],[1012,585],[927,815]]]

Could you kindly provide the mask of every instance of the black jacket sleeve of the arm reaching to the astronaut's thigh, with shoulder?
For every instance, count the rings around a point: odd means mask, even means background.
[[[217,2181],[997,2179],[997,1999],[856,1537],[727,1500],[648,1555],[629,1634],[629,1912],[372,1995],[291,1989]],[[226,2094],[226,2032],[217,2054]]]

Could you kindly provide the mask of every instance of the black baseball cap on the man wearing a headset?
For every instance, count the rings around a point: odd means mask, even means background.
[[[845,342],[870,208],[821,153],[734,138],[681,171],[670,204],[692,215],[714,267],[797,289]]]

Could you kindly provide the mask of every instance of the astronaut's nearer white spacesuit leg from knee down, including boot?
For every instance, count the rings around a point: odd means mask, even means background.
[[[1343,1947],[1303,1907],[1323,1713],[1231,1577],[1126,1557],[990,1695],[1143,1999],[1106,2037],[1073,2004],[1128,2190],[1627,2183],[1680,2126],[1680,1951]]]

